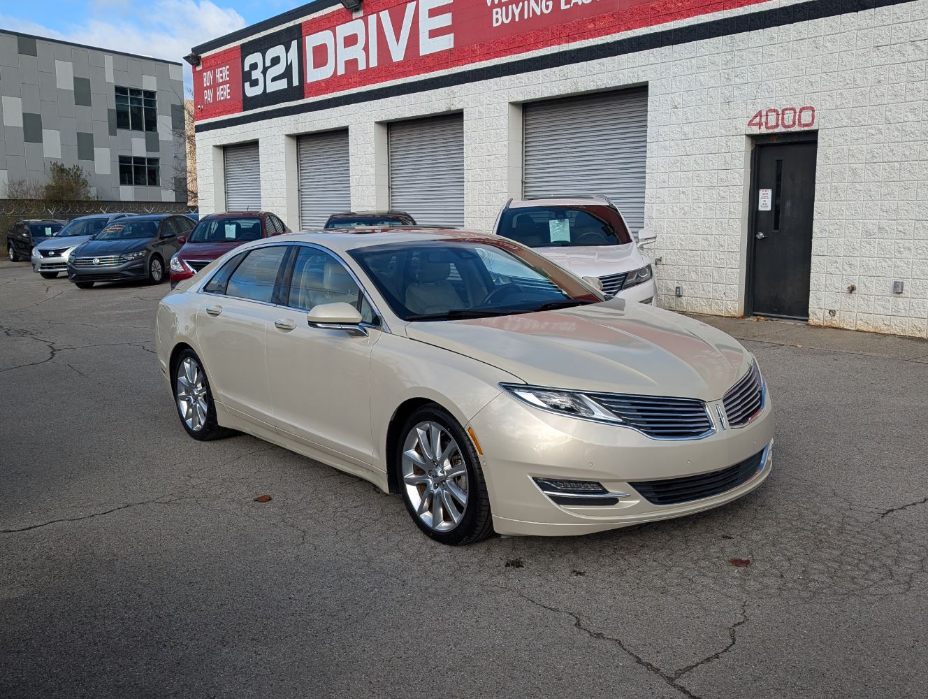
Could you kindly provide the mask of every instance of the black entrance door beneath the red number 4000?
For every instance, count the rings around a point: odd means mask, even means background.
[[[809,316],[816,148],[815,141],[756,146],[748,281],[755,315]]]

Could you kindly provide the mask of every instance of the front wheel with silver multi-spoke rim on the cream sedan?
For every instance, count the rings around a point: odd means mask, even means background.
[[[444,408],[426,406],[409,417],[395,462],[406,510],[427,537],[458,545],[493,534],[480,458]]]

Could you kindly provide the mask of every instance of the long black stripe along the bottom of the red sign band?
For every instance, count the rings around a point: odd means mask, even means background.
[[[329,0],[323,1],[328,2]],[[224,129],[228,126],[263,122],[267,119],[276,119],[277,117],[292,116],[293,114],[303,114],[311,111],[329,110],[361,102],[372,102],[377,99],[411,95],[443,87],[520,75],[524,72],[545,71],[560,66],[574,65],[575,63],[586,63],[586,61],[590,60],[625,56],[654,48],[665,48],[667,46],[689,44],[694,41],[714,39],[719,36],[755,32],[810,19],[840,17],[841,15],[863,10],[903,5],[910,2],[914,2],[914,0],[809,0],[795,5],[784,5],[740,15],[728,15],[728,17],[709,19],[672,29],[627,36],[601,44],[570,47],[531,58],[515,58],[495,65],[453,71],[445,75],[429,75],[419,80],[410,79],[382,87],[358,89],[344,92],[335,97],[321,97],[313,101],[297,102],[273,110],[245,112],[226,118],[219,117],[214,121],[197,124],[196,130],[197,133],[203,133],[215,129]]]

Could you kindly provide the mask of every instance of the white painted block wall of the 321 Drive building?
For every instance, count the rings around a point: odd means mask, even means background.
[[[521,194],[520,103],[648,84],[645,225],[658,234],[649,252],[660,258],[659,303],[735,316],[744,309],[750,136],[757,133],[746,124],[757,110],[810,105],[817,112],[818,171],[809,321],[928,337],[926,60],[928,0],[916,0],[201,132],[200,211],[222,201],[214,149],[257,138],[263,206],[297,229],[287,137],[345,126],[352,206],[385,208],[384,123],[463,111],[466,226],[488,230],[499,207]],[[905,282],[902,294],[892,291],[896,279]],[[677,285],[684,289],[680,298]]]

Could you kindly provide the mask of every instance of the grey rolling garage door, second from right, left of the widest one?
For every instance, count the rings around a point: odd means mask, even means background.
[[[464,225],[464,117],[391,123],[390,208],[423,226]]]

